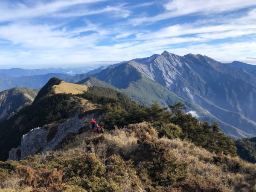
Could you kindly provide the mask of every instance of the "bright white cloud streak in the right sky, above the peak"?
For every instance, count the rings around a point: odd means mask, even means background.
[[[256,9],[250,10],[250,12],[239,18],[224,18],[223,22],[221,20],[218,23],[211,23],[206,18],[197,20],[194,23],[176,24],[164,27],[155,32],[140,32],[135,39],[143,41],[170,39],[180,36],[184,38],[184,35],[189,35],[190,38],[191,36],[194,37],[191,38],[192,40],[197,38],[198,42],[207,42],[217,39],[238,38],[241,36],[249,37],[248,35],[256,35],[256,16],[252,13],[256,15]],[[204,23],[203,26],[202,23]]]

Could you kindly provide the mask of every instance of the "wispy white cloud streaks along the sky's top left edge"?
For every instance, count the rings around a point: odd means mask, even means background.
[[[79,17],[94,15],[103,12],[119,12],[122,17],[127,17],[129,11],[123,10],[120,6],[106,6],[102,9],[90,10],[88,4],[99,3],[109,0],[55,0],[51,3],[35,1],[32,5],[24,3],[0,3],[0,22],[15,21],[21,19],[32,19],[36,17]],[[68,9],[76,6],[76,9]],[[80,10],[79,10],[80,9]]]

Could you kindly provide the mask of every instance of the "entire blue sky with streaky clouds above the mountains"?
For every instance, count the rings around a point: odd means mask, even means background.
[[[96,67],[164,50],[256,64],[256,0],[0,1],[0,68]]]

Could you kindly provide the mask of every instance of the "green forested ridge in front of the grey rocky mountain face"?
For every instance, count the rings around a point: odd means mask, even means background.
[[[245,133],[223,121],[220,121],[215,116],[213,116],[209,111],[201,108],[199,105],[190,102],[188,99],[177,96],[172,91],[168,90],[166,87],[158,84],[157,82],[147,78],[142,77],[137,81],[131,81],[126,88],[116,88],[110,84],[95,79],[93,77],[84,79],[77,82],[78,84],[84,84],[86,86],[97,86],[97,87],[108,87],[114,90],[118,90],[125,93],[133,101],[138,102],[144,106],[150,106],[152,103],[157,101],[161,106],[168,106],[169,104],[174,104],[176,102],[183,102],[187,106],[186,112],[191,112],[197,116],[202,121],[214,122],[218,121],[221,126],[222,131],[233,137],[250,137],[250,134]],[[95,93],[97,94],[97,93]]]

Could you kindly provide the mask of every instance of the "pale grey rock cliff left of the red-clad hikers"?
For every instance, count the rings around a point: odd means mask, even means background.
[[[64,138],[70,134],[77,134],[85,126],[85,120],[89,121],[93,117],[95,117],[95,113],[88,114],[82,118],[76,116],[60,124],[52,123],[42,128],[30,130],[23,135],[21,145],[9,151],[8,160],[22,160],[24,157],[33,156],[38,152],[46,153],[54,150]]]

